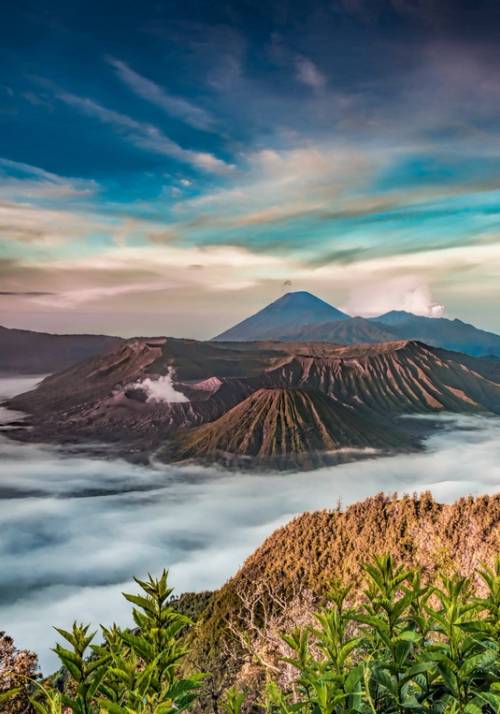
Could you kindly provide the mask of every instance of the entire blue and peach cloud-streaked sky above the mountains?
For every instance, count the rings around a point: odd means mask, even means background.
[[[209,338],[289,290],[500,332],[496,0],[7,0],[0,324]]]

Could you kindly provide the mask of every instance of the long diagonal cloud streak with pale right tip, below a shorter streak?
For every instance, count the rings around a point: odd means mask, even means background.
[[[120,135],[141,149],[169,156],[209,173],[225,174],[234,168],[209,152],[184,149],[153,124],[140,122],[126,114],[107,109],[92,99],[78,97],[68,92],[60,92],[58,98],[84,114],[96,117],[104,124],[112,126]]]

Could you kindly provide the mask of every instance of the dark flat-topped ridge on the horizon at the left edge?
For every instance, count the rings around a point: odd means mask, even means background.
[[[106,335],[52,335],[0,326],[0,373],[59,372],[121,341]]]

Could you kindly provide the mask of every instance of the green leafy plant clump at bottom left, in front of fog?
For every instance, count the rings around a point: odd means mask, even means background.
[[[32,699],[37,714],[173,714],[190,708],[203,679],[179,675],[186,654],[182,634],[190,620],[169,604],[166,571],[136,582],[140,595],[124,593],[134,606],[134,629],[103,627],[102,644],[94,643],[96,633],[88,626],[57,629],[67,644],[54,651],[69,682],[63,694],[40,687]]]

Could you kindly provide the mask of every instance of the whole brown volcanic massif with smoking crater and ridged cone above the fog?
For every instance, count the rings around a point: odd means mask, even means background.
[[[129,458],[305,468],[348,449],[414,448],[430,422],[500,414],[496,360],[419,342],[129,340],[9,403],[23,439],[105,442]],[[344,456],[342,456],[342,453]],[[361,455],[361,454],[360,454]]]

